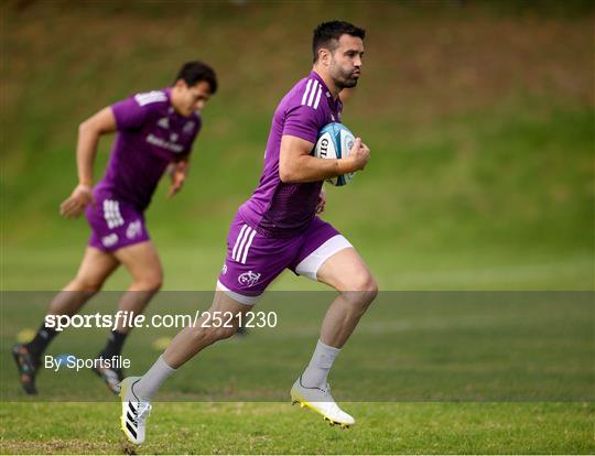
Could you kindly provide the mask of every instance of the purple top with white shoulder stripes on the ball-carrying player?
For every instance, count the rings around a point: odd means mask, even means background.
[[[284,184],[279,177],[281,137],[289,134],[312,142],[331,122],[340,122],[343,105],[335,101],[316,73],[300,80],[283,97],[272,119],[264,169],[255,193],[239,213],[257,232],[268,237],[292,237],[303,232],[314,219],[323,182]]]

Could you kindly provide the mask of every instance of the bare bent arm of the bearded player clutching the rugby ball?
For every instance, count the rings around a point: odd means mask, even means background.
[[[346,173],[364,170],[370,150],[356,138],[346,159],[318,159],[311,155],[314,144],[302,138],[283,134],[279,152],[279,177],[282,182],[318,182]]]

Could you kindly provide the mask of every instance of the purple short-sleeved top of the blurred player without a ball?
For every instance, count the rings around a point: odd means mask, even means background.
[[[170,97],[171,89],[165,88],[137,94],[111,106],[118,133],[96,194],[130,203],[143,211],[167,165],[191,152],[201,117],[182,117]]]

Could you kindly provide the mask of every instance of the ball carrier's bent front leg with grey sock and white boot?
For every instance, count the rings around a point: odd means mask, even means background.
[[[339,295],[326,312],[314,355],[304,373],[295,381],[291,397],[294,403],[321,413],[331,424],[347,427],[355,420],[336,404],[326,380],[340,348],[376,297],[378,286],[353,248],[339,250],[328,258],[318,269],[317,279],[333,286]]]

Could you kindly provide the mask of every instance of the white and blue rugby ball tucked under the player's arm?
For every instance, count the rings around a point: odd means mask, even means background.
[[[343,123],[328,123],[318,133],[318,140],[314,146],[314,156],[318,159],[346,159],[354,146],[354,133]],[[328,178],[326,182],[339,187],[351,182],[354,174],[343,174]]]

